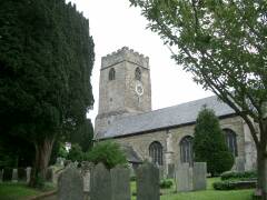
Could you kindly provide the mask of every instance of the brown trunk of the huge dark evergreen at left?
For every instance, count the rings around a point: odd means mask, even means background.
[[[46,138],[41,142],[34,142],[36,159],[31,172],[30,187],[42,187],[46,180],[53,141],[53,138]]]

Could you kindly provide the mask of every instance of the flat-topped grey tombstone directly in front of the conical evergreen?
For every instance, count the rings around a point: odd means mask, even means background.
[[[192,167],[192,189],[206,190],[207,188],[207,163],[194,162]]]

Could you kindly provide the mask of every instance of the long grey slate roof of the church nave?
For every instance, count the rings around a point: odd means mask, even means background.
[[[134,133],[147,132],[164,128],[178,127],[196,122],[202,106],[215,111],[217,117],[234,114],[235,111],[217,97],[208,97],[174,107],[168,107],[136,116],[125,117],[110,124],[102,138],[123,137]]]

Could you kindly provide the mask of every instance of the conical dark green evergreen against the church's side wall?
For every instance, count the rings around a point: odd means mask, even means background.
[[[214,110],[204,109],[198,113],[194,132],[194,160],[207,162],[211,176],[220,174],[231,169],[234,158],[219,126],[219,120]]]

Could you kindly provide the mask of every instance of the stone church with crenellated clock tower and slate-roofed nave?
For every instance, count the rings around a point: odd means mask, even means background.
[[[194,128],[204,106],[219,118],[235,157],[233,169],[255,169],[256,148],[247,124],[217,97],[151,110],[149,58],[127,47],[101,58],[95,139],[130,148],[132,162],[151,160],[168,174],[179,163],[192,161]]]

